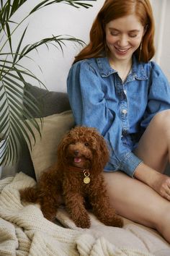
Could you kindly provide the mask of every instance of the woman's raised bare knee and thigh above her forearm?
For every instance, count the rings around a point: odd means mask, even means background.
[[[151,168],[163,172],[168,162],[170,111],[156,114],[140,138],[135,155]]]

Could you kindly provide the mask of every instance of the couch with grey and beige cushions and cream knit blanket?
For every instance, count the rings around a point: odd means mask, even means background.
[[[42,115],[34,114],[37,122],[43,117],[42,137],[35,131],[35,144],[30,135],[32,150],[25,143],[17,173],[4,171],[0,180],[0,255],[170,255],[170,244],[157,231],[128,219],[124,218],[123,228],[118,229],[104,226],[89,211],[91,228],[81,229],[64,206],[51,223],[42,216],[40,205],[20,201],[19,189],[36,184],[41,172],[56,161],[58,142],[74,125],[66,93],[29,84],[27,91],[42,105]]]

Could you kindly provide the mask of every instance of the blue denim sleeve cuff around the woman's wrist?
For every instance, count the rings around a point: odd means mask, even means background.
[[[120,170],[124,171],[129,176],[133,177],[135,168],[142,162],[140,158],[132,152],[125,155],[125,158],[120,162]]]

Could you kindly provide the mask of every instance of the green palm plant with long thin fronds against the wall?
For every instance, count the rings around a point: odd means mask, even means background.
[[[22,58],[29,58],[29,53],[39,46],[53,43],[61,51],[66,46],[66,41],[84,45],[82,40],[66,35],[53,35],[50,38],[33,44],[22,46],[24,35],[27,33],[27,25],[24,28],[17,48],[13,48],[12,35],[17,28],[34,12],[49,6],[63,2],[72,7],[91,7],[86,2],[96,0],[44,0],[24,17],[20,22],[13,20],[14,14],[28,0],[0,0],[0,165],[14,163],[19,155],[19,146],[24,140],[30,143],[28,133],[34,137],[32,126],[41,133],[41,127],[36,119],[32,118],[32,111],[40,112],[40,106],[35,103],[35,98],[27,92],[24,93],[24,86],[27,85],[27,77],[32,77],[42,85],[42,82],[32,74],[30,70],[21,64]],[[13,29],[11,28],[13,27]],[[8,49],[6,51],[6,48]],[[26,107],[23,107],[24,106]],[[29,111],[31,109],[32,111]],[[29,119],[28,123],[25,119]],[[5,139],[5,140],[4,140]],[[30,144],[31,147],[31,144]]]

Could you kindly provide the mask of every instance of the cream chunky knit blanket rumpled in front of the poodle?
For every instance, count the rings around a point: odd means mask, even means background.
[[[34,184],[23,173],[0,180],[1,256],[151,256],[142,250],[116,247],[90,229],[66,229],[51,223],[38,205],[20,202],[19,189]]]

